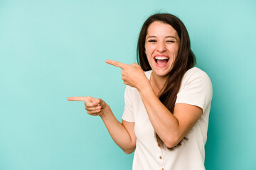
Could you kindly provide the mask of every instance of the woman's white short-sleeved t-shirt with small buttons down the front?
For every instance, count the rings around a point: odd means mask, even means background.
[[[145,72],[150,79],[151,70]],[[124,114],[122,119],[135,122],[137,137],[134,153],[134,170],[203,170],[208,118],[213,89],[208,75],[197,67],[189,69],[181,82],[176,103],[187,103],[203,109],[201,118],[188,132],[181,147],[170,151],[158,147],[146,108],[136,88],[127,86],[124,93]]]

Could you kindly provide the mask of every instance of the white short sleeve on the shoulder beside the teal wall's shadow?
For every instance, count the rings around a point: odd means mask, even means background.
[[[198,69],[196,72],[189,72],[184,75],[176,103],[198,106],[203,109],[204,113],[212,98],[213,86],[210,78],[205,72]]]

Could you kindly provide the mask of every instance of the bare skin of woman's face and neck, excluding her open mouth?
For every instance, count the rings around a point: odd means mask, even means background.
[[[156,95],[166,82],[166,75],[171,72],[172,64],[178,55],[180,39],[178,33],[169,24],[156,21],[151,23],[147,30],[145,53],[153,72],[151,74],[151,85]],[[154,57],[169,57],[166,67],[157,67]]]

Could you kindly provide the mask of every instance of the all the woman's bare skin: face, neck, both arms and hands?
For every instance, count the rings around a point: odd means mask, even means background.
[[[149,115],[155,132],[164,141],[166,147],[176,146],[188,131],[201,117],[203,110],[197,106],[177,103],[174,113],[171,113],[159,101],[157,95],[163,88],[167,79],[166,74],[171,71],[172,64],[178,55],[179,38],[176,30],[169,24],[155,21],[147,30],[145,53],[152,68],[150,81],[146,78],[142,68],[134,63],[132,65],[106,60],[107,64],[122,69],[124,84],[132,86],[139,91],[142,101]],[[169,57],[166,67],[158,67],[154,62],[156,55]],[[100,115],[114,142],[129,154],[136,148],[136,135],[134,123],[114,117],[110,106],[100,98],[69,97],[69,101],[85,101],[85,110],[90,115]]]

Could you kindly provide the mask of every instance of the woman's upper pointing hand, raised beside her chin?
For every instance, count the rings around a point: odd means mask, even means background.
[[[132,65],[129,65],[113,60],[106,60],[106,62],[107,64],[111,64],[122,69],[121,74],[124,84],[135,87],[138,90],[141,90],[147,85],[150,86],[149,79],[146,78],[142,67],[138,64],[133,63]]]

